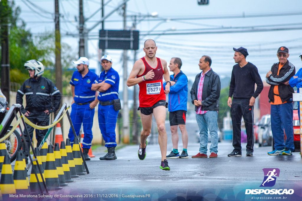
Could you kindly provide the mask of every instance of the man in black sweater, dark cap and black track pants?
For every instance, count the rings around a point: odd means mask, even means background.
[[[227,104],[231,107],[233,124],[233,152],[227,156],[242,156],[241,154],[241,118],[243,116],[246,127],[247,145],[246,156],[253,156],[254,151],[254,103],[263,89],[263,83],[257,67],[246,61],[249,55],[247,49],[233,48],[235,51],[229,99]],[[257,88],[255,90],[255,83]],[[233,101],[232,101],[233,96]],[[233,102],[233,103],[232,103]]]

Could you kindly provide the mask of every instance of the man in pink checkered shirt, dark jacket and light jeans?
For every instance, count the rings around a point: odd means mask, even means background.
[[[211,67],[209,56],[202,56],[199,60],[201,73],[197,74],[191,89],[192,103],[195,105],[196,121],[199,127],[199,152],[192,158],[207,158],[208,131],[211,136],[210,156],[217,158],[220,78]]]

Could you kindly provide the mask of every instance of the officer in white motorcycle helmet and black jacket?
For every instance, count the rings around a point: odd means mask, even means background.
[[[25,69],[29,72],[29,79],[25,80],[21,88],[17,92],[16,103],[21,104],[21,112],[32,123],[38,126],[49,125],[49,114],[55,112],[60,107],[61,93],[56,88],[54,83],[42,77],[44,73],[44,66],[40,61],[29,60],[24,64]],[[23,96],[26,95],[26,107],[23,107]],[[53,97],[53,101],[52,101]],[[26,124],[27,132],[24,130],[24,136],[27,146],[30,146],[30,142],[27,140],[27,135],[33,138],[34,128]],[[37,146],[40,145],[43,137],[47,133],[47,130],[36,129]],[[28,153],[24,148],[25,162],[28,164]]]

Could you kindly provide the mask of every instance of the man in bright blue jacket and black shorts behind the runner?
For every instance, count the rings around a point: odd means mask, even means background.
[[[187,152],[188,146],[188,133],[186,129],[186,113],[188,101],[188,78],[180,70],[182,67],[182,60],[178,57],[173,57],[170,61],[169,68],[174,74],[170,76],[171,86],[169,92],[169,120],[170,129],[172,133],[173,150],[167,159],[189,158]],[[166,83],[163,83],[165,88]],[[178,127],[182,132],[182,154],[178,152]]]

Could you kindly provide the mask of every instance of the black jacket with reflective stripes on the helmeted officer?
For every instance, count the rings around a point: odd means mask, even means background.
[[[23,96],[26,96],[26,107],[23,107]],[[38,77],[37,80],[29,78],[24,81],[17,92],[16,103],[21,104],[21,111],[41,112],[49,110],[55,112],[59,109],[61,103],[61,93],[54,83],[45,78]]]

